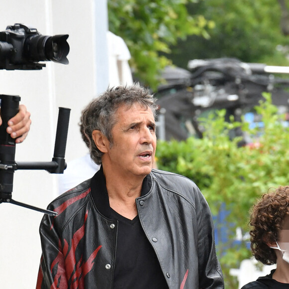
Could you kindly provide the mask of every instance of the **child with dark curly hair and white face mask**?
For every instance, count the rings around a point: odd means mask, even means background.
[[[253,256],[277,267],[242,289],[289,289],[289,186],[264,194],[252,207],[250,225]]]

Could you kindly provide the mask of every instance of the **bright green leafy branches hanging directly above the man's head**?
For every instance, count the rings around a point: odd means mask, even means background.
[[[196,0],[108,0],[109,29],[125,40],[132,69],[152,89],[159,84],[158,72],[171,63],[159,52],[170,53],[169,45],[187,35],[208,37],[205,29],[212,22],[189,15],[188,2]]]

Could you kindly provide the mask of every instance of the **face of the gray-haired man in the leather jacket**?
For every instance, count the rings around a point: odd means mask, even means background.
[[[155,122],[149,108],[139,104],[123,105],[117,110],[112,129],[113,144],[106,160],[114,170],[126,176],[145,176],[150,173],[156,148]]]

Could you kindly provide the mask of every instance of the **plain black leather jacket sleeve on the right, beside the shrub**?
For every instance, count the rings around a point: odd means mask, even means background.
[[[199,287],[202,289],[223,289],[224,280],[214,240],[212,214],[200,190],[195,194],[198,226]]]

